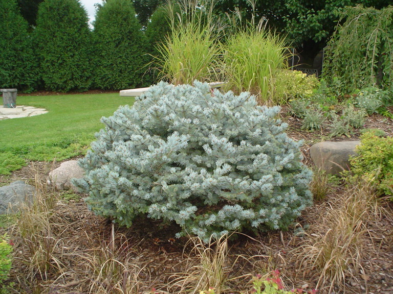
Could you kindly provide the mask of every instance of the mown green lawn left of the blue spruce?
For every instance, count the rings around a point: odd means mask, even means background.
[[[30,160],[63,160],[83,154],[94,133],[103,127],[100,118],[134,101],[118,93],[18,96],[17,105],[49,112],[0,120],[0,174],[9,174]]]

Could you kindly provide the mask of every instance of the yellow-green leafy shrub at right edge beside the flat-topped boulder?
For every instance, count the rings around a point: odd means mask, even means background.
[[[393,137],[377,137],[366,133],[351,158],[353,177],[372,183],[381,194],[393,199]],[[346,174],[348,176],[349,174]]]

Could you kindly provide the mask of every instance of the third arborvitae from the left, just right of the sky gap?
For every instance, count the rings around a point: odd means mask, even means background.
[[[149,85],[143,79],[146,42],[135,15],[129,0],[107,0],[97,11],[93,32],[96,87],[121,90]]]

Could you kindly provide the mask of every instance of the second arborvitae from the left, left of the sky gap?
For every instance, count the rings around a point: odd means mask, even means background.
[[[45,0],[35,30],[45,88],[88,90],[91,85],[91,32],[78,0]]]

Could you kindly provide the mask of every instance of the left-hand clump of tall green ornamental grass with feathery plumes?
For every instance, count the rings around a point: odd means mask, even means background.
[[[167,3],[170,33],[157,45],[158,55],[151,62],[161,79],[175,85],[190,84],[195,79],[215,81],[221,57],[217,31],[221,29],[214,26],[213,6],[209,0],[202,7],[194,0]]]

